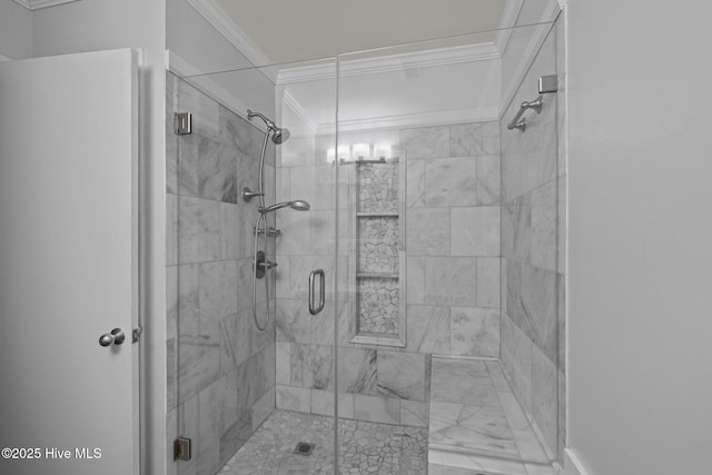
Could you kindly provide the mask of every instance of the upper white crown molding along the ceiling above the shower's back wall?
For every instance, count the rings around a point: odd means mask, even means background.
[[[500,59],[493,42],[438,48],[428,51],[406,52],[338,62],[338,77],[376,75],[463,62]],[[336,78],[336,62],[300,68],[281,69],[277,75],[277,85],[307,82]]]

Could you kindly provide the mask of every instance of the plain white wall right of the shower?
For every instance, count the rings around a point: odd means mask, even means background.
[[[570,447],[710,473],[712,3],[570,6]]]

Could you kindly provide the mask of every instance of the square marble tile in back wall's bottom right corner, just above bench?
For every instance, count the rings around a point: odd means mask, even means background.
[[[451,354],[453,356],[500,356],[500,310],[452,307]]]

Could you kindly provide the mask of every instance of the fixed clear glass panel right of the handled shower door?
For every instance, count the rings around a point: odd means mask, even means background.
[[[556,95],[506,128],[556,67],[551,23],[338,57],[342,468],[556,459]]]

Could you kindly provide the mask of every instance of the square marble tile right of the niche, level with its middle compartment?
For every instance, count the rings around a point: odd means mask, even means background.
[[[451,216],[447,208],[413,208],[406,217],[408,256],[449,254]]]

